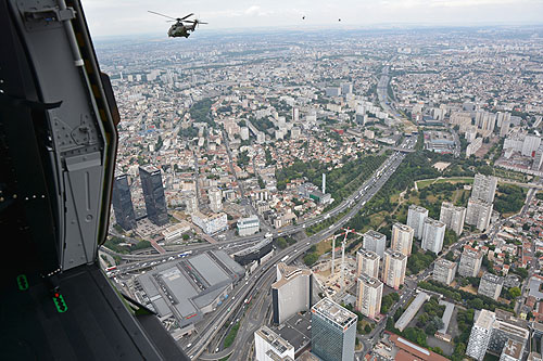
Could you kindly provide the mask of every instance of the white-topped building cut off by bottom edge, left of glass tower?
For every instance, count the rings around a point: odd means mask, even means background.
[[[266,326],[254,332],[256,361],[294,360],[294,347]]]

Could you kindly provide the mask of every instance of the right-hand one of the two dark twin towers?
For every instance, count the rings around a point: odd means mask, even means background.
[[[160,169],[153,166],[140,166],[139,177],[146,198],[147,218],[156,225],[167,224],[166,197]]]

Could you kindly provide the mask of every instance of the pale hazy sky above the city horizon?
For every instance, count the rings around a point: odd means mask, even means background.
[[[166,18],[147,10],[174,17],[193,12],[210,22],[203,25],[209,30],[543,23],[543,0],[83,0],[83,5],[93,36],[166,33]]]

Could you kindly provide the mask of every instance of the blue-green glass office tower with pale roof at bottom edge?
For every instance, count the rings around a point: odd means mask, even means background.
[[[311,309],[311,349],[323,361],[353,361],[358,317],[323,298]]]

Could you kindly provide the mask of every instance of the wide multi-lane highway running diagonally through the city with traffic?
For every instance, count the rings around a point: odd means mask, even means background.
[[[402,143],[403,147],[411,150],[416,144],[416,138],[406,138]],[[405,154],[402,152],[393,153],[378,170],[369,178],[364,184],[361,185],[357,192],[348,197],[340,206],[331,210],[329,214],[318,217],[317,219],[312,219],[303,224],[290,227],[287,229],[281,229],[279,232],[274,232],[274,236],[280,236],[285,234],[292,234],[302,231],[306,225],[314,224],[321,219],[328,219],[331,216],[341,214],[344,210],[348,212],[341,217],[336,223],[329,228],[321,230],[320,232],[307,237],[303,242],[298,242],[294,245],[279,250],[276,255],[272,257],[266,263],[260,266],[250,279],[245,283],[238,284],[233,292],[232,297],[225,301],[220,309],[215,311],[214,318],[204,325],[203,330],[200,330],[199,338],[192,343],[191,347],[187,351],[190,358],[198,358],[202,352],[204,352],[211,340],[217,335],[224,323],[230,318],[230,315],[236,312],[236,310],[241,306],[247,297],[253,295],[253,292],[260,289],[261,280],[266,280],[275,274],[275,265],[279,262],[285,256],[289,256],[286,262],[291,262],[298,256],[306,252],[312,245],[319,243],[320,241],[329,237],[336,231],[340,230],[351,218],[353,218],[358,210],[364,207],[364,205],[371,199],[371,197],[382,188],[382,185],[389,180],[389,178],[394,173],[400,164],[405,158]],[[260,285],[260,286],[256,286]],[[264,288],[265,289],[265,288]],[[247,324],[242,323],[239,330],[240,335],[248,332]],[[236,344],[242,337],[237,338]]]

